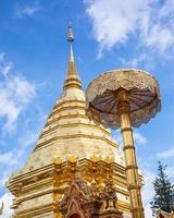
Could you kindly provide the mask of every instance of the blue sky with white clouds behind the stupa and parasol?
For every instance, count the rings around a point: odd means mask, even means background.
[[[67,25],[84,89],[100,73],[120,68],[151,72],[160,83],[162,111],[135,129],[148,202],[157,161],[174,181],[174,0],[0,1],[0,202],[11,195],[9,174],[22,167],[62,92],[69,60]],[[120,142],[119,131],[113,136]],[[5,169],[5,170],[4,170]],[[145,194],[146,193],[146,194]],[[147,194],[148,193],[148,194]]]

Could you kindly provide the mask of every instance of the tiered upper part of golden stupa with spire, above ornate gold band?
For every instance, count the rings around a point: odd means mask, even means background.
[[[57,157],[62,161],[66,161],[71,156],[77,159],[110,157],[124,166],[123,153],[111,138],[110,131],[89,120],[86,114],[85,95],[73,55],[74,35],[71,26],[67,41],[70,61],[62,96],[57,100],[35,149],[25,167],[18,171],[20,174],[52,164]]]

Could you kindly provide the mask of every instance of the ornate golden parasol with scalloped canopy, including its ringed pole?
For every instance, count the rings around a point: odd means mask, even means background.
[[[122,129],[126,174],[133,218],[142,218],[138,167],[132,126],[139,126],[161,109],[156,78],[140,70],[113,70],[101,74],[87,87],[87,113],[107,126]]]

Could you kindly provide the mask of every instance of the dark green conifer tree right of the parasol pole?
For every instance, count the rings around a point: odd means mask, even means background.
[[[159,209],[166,213],[174,210],[174,185],[166,177],[165,168],[166,166],[158,162],[158,175],[153,181],[154,196],[150,203],[153,216]]]

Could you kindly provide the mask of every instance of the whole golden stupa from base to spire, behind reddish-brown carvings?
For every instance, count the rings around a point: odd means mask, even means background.
[[[25,166],[14,172],[7,184],[14,195],[12,217],[63,217],[59,203],[77,172],[80,172],[87,184],[96,189],[103,186],[107,178],[112,180],[117,208],[124,218],[130,218],[124,154],[110,131],[86,114],[85,94],[74,61],[71,27],[67,40],[70,62],[62,96],[48,117]],[[141,175],[139,181],[141,184]]]

